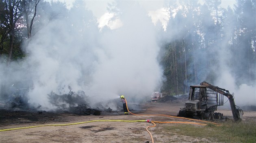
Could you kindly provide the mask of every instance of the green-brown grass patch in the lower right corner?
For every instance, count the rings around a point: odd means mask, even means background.
[[[206,138],[215,142],[232,143],[255,143],[256,142],[256,122],[241,121],[222,123],[221,126],[208,124],[207,126],[195,126],[191,124],[175,124],[164,126],[165,131],[177,133],[179,135]]]

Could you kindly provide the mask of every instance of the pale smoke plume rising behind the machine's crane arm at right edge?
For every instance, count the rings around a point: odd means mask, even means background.
[[[231,94],[234,93],[234,102],[236,105],[240,107],[256,106],[256,81],[253,78],[250,79],[247,69],[245,70],[240,66],[244,63],[249,63],[248,59],[243,58],[242,61],[239,61],[239,63],[232,63],[234,62],[234,55],[232,55],[234,51],[232,51],[232,48],[229,48],[230,46],[228,45],[228,43],[230,43],[230,36],[234,32],[234,29],[232,29],[232,27],[234,27],[234,24],[236,23],[234,22],[234,19],[231,18],[232,17],[228,15],[228,18],[224,19],[223,21],[223,23],[226,24],[223,31],[226,36],[223,37],[223,42],[217,45],[219,46],[219,48],[217,48],[216,54],[218,57],[217,62],[219,64],[217,64],[217,66],[215,67],[215,69],[217,69],[217,78],[214,84],[216,84],[216,86],[229,90]],[[241,49],[238,52],[241,57],[246,57],[245,52],[242,52],[243,50],[245,50],[245,47],[246,45],[241,46]],[[240,76],[236,73],[243,74],[242,76]],[[256,76],[255,73],[252,74],[254,75],[253,77]],[[228,98],[226,99],[228,100]],[[224,105],[224,107],[226,106],[230,107],[229,102]]]

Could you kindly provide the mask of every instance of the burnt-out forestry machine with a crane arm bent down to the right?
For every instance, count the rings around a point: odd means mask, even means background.
[[[209,89],[210,90],[209,90]],[[207,82],[200,85],[190,86],[189,100],[185,106],[180,108],[179,117],[192,117],[201,119],[224,119],[223,114],[214,113],[217,106],[223,105],[223,95],[228,97],[234,121],[241,120],[243,110],[234,103],[234,93],[231,95],[228,90],[213,86]]]

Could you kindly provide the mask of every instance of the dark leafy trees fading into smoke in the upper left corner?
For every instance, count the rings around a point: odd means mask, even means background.
[[[35,4],[38,4],[36,10]],[[26,12],[24,12],[24,9]],[[68,10],[65,4],[61,2],[52,2],[51,6],[49,2],[41,0],[2,0],[0,2],[0,57],[4,58],[4,61],[9,58],[18,60],[26,57],[22,50],[22,45],[25,45],[23,42],[30,41],[28,38],[31,37],[31,34],[33,36],[41,29],[39,25],[48,23],[53,15],[54,18],[57,18],[56,15],[61,12],[64,13],[64,11],[67,12]],[[13,19],[9,19],[10,17]],[[33,29],[32,32],[29,30],[30,28]],[[30,34],[28,34],[28,30]],[[14,37],[13,40],[11,40],[12,36]],[[13,43],[13,46],[11,46],[11,43]],[[8,58],[11,49],[11,57]]]

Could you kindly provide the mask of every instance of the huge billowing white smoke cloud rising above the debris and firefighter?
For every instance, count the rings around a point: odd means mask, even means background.
[[[154,24],[138,3],[129,3],[132,11],[124,3],[119,15],[123,26],[115,30],[100,31],[91,11],[78,7],[81,1],[67,15],[58,14],[24,47],[26,59],[0,64],[0,84],[28,85],[28,102],[45,110],[56,109],[50,103],[51,92],[83,90],[91,105],[118,95],[134,101],[150,95],[162,74]]]

